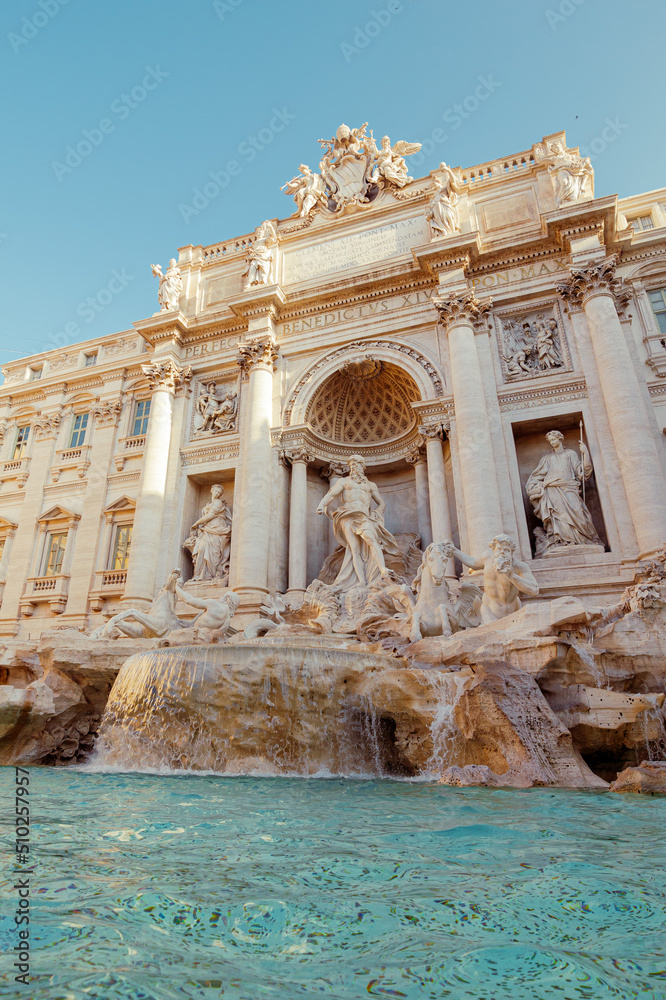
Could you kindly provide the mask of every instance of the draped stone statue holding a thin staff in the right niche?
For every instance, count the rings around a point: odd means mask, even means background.
[[[552,451],[544,455],[527,480],[534,513],[546,534],[545,550],[560,545],[600,544],[592,517],[581,497],[581,484],[592,475],[592,462],[581,441],[580,458],[564,447],[560,431],[548,431]]]

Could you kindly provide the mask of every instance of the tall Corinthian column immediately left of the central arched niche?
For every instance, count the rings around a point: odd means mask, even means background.
[[[251,337],[239,348],[238,364],[249,374],[245,399],[240,489],[234,505],[238,532],[234,589],[241,609],[258,612],[268,593],[271,527],[271,418],[273,371],[278,351],[270,333]]]

